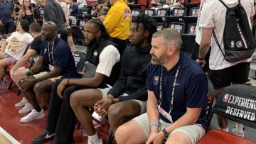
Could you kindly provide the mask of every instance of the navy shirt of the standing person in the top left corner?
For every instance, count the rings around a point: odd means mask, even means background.
[[[14,5],[10,0],[4,2],[0,0],[0,20],[2,23],[11,23],[13,18],[11,17],[12,12],[14,11]]]

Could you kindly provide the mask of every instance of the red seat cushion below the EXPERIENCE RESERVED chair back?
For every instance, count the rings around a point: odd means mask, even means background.
[[[220,130],[212,130],[198,141],[197,144],[256,144],[256,142],[242,138],[238,135],[226,133]]]

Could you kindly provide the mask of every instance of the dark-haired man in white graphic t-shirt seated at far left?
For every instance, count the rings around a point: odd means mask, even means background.
[[[11,33],[9,38],[4,40],[1,45],[0,53],[0,77],[4,77],[4,69],[8,65],[15,64],[19,60],[28,45],[31,45],[33,37],[28,33],[28,20],[20,19],[17,24],[17,31]]]

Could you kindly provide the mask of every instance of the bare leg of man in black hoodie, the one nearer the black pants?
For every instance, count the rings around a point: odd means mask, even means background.
[[[99,89],[82,89],[73,92],[70,96],[70,106],[89,136],[96,132],[92,124],[92,114],[88,108],[93,109],[93,105],[101,99],[102,92]]]

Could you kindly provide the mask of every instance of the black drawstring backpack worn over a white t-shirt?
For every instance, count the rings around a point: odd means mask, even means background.
[[[252,57],[256,43],[250,29],[247,14],[241,6],[240,0],[238,5],[232,8],[226,6],[223,1],[219,1],[227,8],[223,33],[224,52],[220,48],[220,43],[214,31],[213,37],[225,60],[228,62],[237,62]]]

